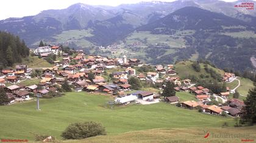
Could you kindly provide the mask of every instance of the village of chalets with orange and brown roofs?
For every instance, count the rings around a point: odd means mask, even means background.
[[[35,56],[46,58],[49,54],[60,55],[60,60],[54,61],[54,66],[41,68],[41,74],[32,78],[38,69],[27,65],[16,65],[15,69],[4,69],[0,73],[0,85],[4,87],[10,100],[10,105],[34,99],[36,96],[48,97],[51,93],[60,93],[60,87],[68,82],[75,92],[104,93],[112,95],[116,105],[156,104],[166,102],[181,108],[199,110],[212,115],[240,116],[243,101],[229,98],[232,90],[216,94],[208,88],[196,86],[191,79],[181,79],[174,65],[148,65],[140,59],[105,58],[98,55],[86,55],[83,50],[76,50],[73,55],[62,52],[62,47],[49,45],[32,50]],[[154,71],[138,72],[138,68],[151,66]],[[130,84],[131,78],[141,82],[160,85],[157,90],[134,90]],[[224,73],[222,82],[230,82],[235,78],[233,73]],[[23,85],[23,81],[40,79],[39,84]],[[163,97],[162,91],[166,82],[176,85],[176,92],[187,92],[194,100],[180,101],[178,96]],[[8,85],[8,86],[5,86]],[[212,100],[222,100],[217,105],[209,104]]]

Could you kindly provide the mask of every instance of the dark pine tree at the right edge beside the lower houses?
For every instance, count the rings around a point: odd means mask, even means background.
[[[249,90],[249,95],[244,100],[244,104],[241,124],[253,125],[256,123],[256,87]]]

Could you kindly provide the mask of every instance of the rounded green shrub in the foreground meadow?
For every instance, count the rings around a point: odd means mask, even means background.
[[[107,135],[105,128],[102,124],[93,121],[70,124],[62,133],[64,139],[84,139],[99,135]]]

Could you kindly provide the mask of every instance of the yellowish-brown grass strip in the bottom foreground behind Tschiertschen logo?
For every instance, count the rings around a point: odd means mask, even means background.
[[[204,138],[208,131],[210,136]],[[240,127],[240,128],[157,128],[152,130],[143,131],[129,131],[121,135],[113,136],[96,136],[93,138],[73,140],[65,142],[232,142],[240,143],[243,137],[239,136],[239,133],[243,133],[244,136],[249,136],[247,139],[254,139],[256,137],[256,127]],[[216,136],[217,135],[217,136]],[[221,136],[222,135],[222,136]],[[224,135],[227,135],[225,138]],[[229,136],[230,135],[230,136]],[[234,135],[233,138],[232,135]],[[237,136],[238,135],[238,136]],[[219,137],[218,137],[219,136]]]

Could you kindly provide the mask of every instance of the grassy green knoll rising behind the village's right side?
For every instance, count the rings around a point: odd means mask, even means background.
[[[210,76],[210,74],[204,70],[204,64],[200,64],[200,72],[195,71],[194,68],[192,67],[192,64],[193,63],[191,61],[181,61],[175,65],[175,70],[180,76],[180,78],[187,78],[188,75],[194,75],[199,77],[201,74]],[[208,65],[208,68],[213,68],[213,70],[215,70],[217,73],[224,75],[223,70],[219,70],[218,68],[214,68],[210,65]]]

